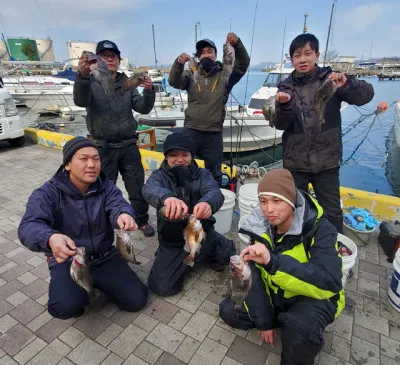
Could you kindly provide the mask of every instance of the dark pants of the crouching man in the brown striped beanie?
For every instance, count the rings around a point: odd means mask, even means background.
[[[317,305],[313,305],[313,302],[316,301],[299,301],[287,311],[278,312],[276,323],[281,328],[281,365],[313,365],[322,349],[323,333],[332,318]],[[246,310],[242,308],[242,311],[236,312],[231,299],[227,298],[219,306],[219,315],[233,328],[255,328]]]

